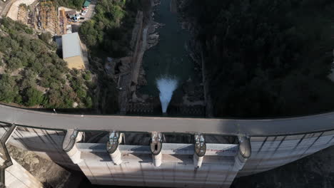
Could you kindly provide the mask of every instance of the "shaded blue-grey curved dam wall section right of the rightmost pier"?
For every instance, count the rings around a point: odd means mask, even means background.
[[[238,176],[288,164],[334,145],[334,131],[303,135],[251,137],[252,156]]]

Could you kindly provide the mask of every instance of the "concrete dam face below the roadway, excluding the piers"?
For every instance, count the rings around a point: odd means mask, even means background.
[[[9,127],[3,125],[0,133],[8,129]],[[18,127],[9,143],[79,170],[92,184],[143,187],[230,187],[236,177],[280,167],[334,145],[334,131],[250,137],[251,157],[241,161],[238,157],[238,143],[229,144],[228,139],[218,140],[206,135],[206,140],[210,143],[206,145],[206,155],[198,168],[193,160],[194,147],[191,140],[173,140],[168,138],[167,134],[161,150],[162,163],[160,167],[155,167],[148,146],[149,137],[146,142],[146,139],[143,139],[146,136],[141,137],[140,132],[125,134],[125,137],[132,138],[125,139],[126,142],[119,145],[122,162],[118,165],[106,151],[107,134],[97,134],[92,139],[87,137],[88,134],[80,140],[74,138],[76,152],[81,152],[78,155],[80,160],[76,162],[63,151],[65,135],[61,130]]]

